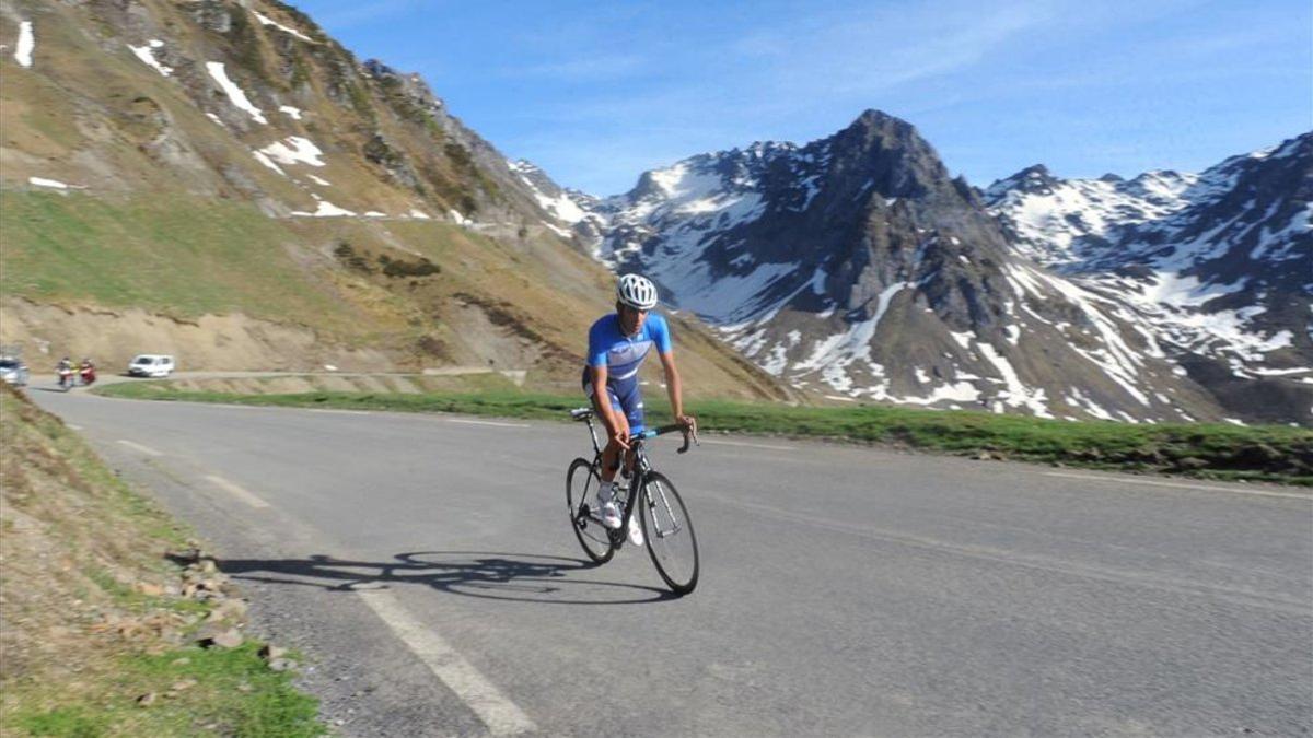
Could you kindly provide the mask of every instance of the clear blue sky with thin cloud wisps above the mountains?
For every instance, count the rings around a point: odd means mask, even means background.
[[[1313,129],[1313,3],[293,0],[593,194],[867,108],[977,185],[1200,171]]]

